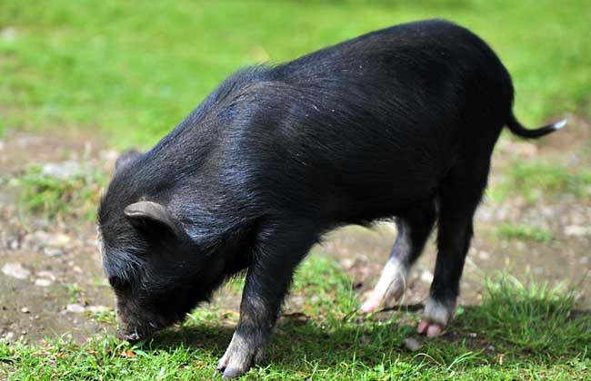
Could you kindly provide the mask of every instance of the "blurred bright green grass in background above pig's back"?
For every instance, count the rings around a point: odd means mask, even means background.
[[[591,113],[586,0],[4,0],[0,133],[86,128],[119,147],[151,144],[239,67],[428,17],[465,24],[492,44],[526,124]]]

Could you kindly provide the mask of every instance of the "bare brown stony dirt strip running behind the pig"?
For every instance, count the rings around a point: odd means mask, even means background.
[[[497,145],[491,183],[499,181],[511,160],[543,157],[546,161],[578,161],[591,168],[591,126],[574,118],[565,132],[542,142],[504,140]],[[31,163],[85,161],[108,172],[115,152],[95,136],[8,134],[0,143],[0,336],[65,336],[76,341],[112,329],[113,296],[105,284],[96,249],[95,224],[87,220],[45,220],[23,215],[12,179]],[[461,304],[477,304],[483,279],[506,269],[521,280],[551,284],[567,281],[580,289],[582,304],[591,307],[591,202],[566,195],[550,203],[528,204],[511,198],[502,204],[485,200],[477,213],[476,239],[466,263]],[[500,223],[528,223],[552,232],[552,242],[501,239]],[[374,230],[347,227],[328,235],[317,251],[334,256],[355,281],[360,293],[376,282],[396,239],[392,223]],[[433,278],[434,242],[413,270],[404,303],[426,298]],[[220,296],[220,298],[224,298]],[[227,306],[237,308],[237,298]]]

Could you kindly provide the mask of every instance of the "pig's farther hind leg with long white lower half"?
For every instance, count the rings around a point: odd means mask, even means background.
[[[399,299],[405,292],[408,272],[421,255],[436,220],[435,201],[428,201],[396,219],[398,236],[376,288],[361,305],[369,313]]]

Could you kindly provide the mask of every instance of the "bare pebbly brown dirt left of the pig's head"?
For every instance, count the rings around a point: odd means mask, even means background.
[[[91,221],[25,216],[11,180],[26,166],[109,156],[93,136],[9,134],[0,151],[0,335],[83,341],[112,309]],[[15,269],[20,268],[19,272]],[[93,312],[94,311],[94,312]]]

